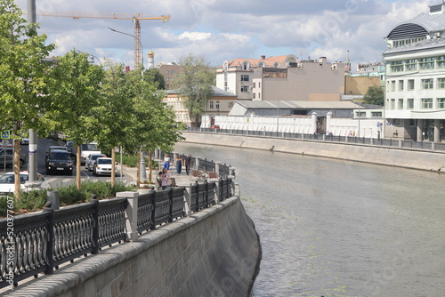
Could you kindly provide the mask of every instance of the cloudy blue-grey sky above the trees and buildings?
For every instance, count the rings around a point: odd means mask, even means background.
[[[300,59],[327,57],[352,64],[381,60],[392,28],[427,12],[431,0],[36,0],[40,33],[56,44],[54,55],[76,48],[99,59],[134,66],[132,20],[39,16],[42,12],[117,12],[171,20],[141,20],[144,63],[179,61],[192,53],[211,66],[236,58],[293,53]],[[27,1],[16,4],[27,10]],[[26,16],[24,16],[26,18]],[[354,70],[354,68],[352,68]]]

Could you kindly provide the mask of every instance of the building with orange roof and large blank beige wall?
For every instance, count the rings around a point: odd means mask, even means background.
[[[344,63],[298,60],[293,54],[236,59],[216,68],[216,86],[239,100],[340,100]]]

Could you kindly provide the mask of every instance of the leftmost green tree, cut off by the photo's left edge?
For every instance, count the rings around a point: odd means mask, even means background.
[[[53,44],[37,35],[36,24],[27,24],[11,0],[0,0],[0,126],[12,131],[14,142],[15,192],[20,198],[20,139],[29,129],[46,133],[44,106],[49,100],[44,62]]]

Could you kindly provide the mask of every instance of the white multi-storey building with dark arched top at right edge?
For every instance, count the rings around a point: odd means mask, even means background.
[[[386,36],[385,136],[440,142],[445,127],[445,7],[403,22]]]

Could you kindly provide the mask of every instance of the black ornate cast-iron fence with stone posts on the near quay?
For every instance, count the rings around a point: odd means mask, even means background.
[[[121,192],[116,198],[91,201],[42,213],[0,220],[0,288],[13,288],[39,273],[78,257],[101,252],[104,246],[135,241],[157,226],[223,202],[237,189],[234,168],[210,165],[196,158],[197,168],[220,168],[217,181],[196,181],[187,187]],[[227,173],[227,174],[226,174]]]

